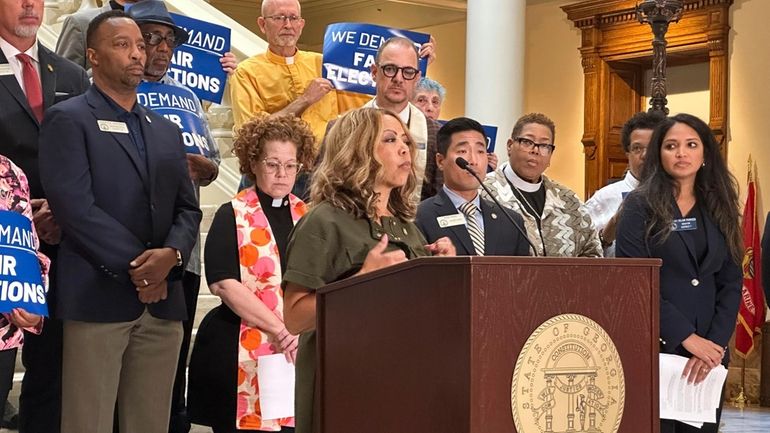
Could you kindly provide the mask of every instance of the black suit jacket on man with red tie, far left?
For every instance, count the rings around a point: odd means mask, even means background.
[[[38,57],[43,108],[79,95],[90,85],[83,68],[39,43]],[[0,64],[6,63],[8,59],[0,51]],[[32,198],[45,197],[37,163],[40,124],[13,74],[0,76],[0,119],[0,153],[24,170]]]

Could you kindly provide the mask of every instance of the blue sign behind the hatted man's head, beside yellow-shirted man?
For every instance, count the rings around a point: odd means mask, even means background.
[[[171,18],[189,37],[174,50],[168,74],[199,98],[221,103],[227,73],[219,58],[230,51],[230,29],[179,14],[171,14]]]

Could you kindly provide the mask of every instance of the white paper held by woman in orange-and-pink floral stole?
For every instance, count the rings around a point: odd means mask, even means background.
[[[294,416],[294,365],[282,353],[257,359],[262,419]]]

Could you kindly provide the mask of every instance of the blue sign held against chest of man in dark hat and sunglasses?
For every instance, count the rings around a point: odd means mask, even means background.
[[[184,87],[144,81],[136,89],[136,100],[179,127],[187,153],[209,156],[209,134],[203,119],[198,117],[193,92]]]

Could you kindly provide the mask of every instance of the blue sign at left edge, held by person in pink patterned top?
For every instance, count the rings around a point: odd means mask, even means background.
[[[0,312],[23,308],[47,316],[45,295],[32,222],[20,213],[0,211]]]

